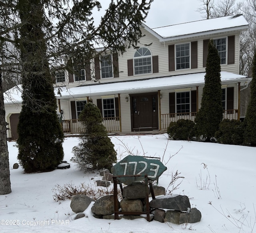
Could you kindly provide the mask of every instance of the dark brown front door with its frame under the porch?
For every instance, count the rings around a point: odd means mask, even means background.
[[[158,129],[157,94],[131,95],[132,131]]]

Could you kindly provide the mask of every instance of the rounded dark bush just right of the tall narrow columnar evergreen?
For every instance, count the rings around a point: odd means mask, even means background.
[[[215,133],[218,143],[241,145],[243,143],[244,124],[241,121],[224,119]]]

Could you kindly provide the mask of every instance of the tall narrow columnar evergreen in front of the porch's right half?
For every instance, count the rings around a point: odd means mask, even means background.
[[[201,108],[195,118],[197,135],[206,141],[214,137],[223,117],[220,70],[220,57],[210,40]]]

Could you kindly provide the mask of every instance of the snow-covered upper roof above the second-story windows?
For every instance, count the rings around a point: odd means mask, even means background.
[[[205,36],[221,32],[232,32],[247,30],[248,22],[242,14],[212,18],[207,20],[198,20],[183,24],[175,24],[159,28],[150,29],[143,24],[144,28],[154,34],[160,42],[190,38],[195,36]]]

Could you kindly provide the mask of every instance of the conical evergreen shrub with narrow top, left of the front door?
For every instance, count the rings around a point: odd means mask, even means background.
[[[79,169],[110,169],[116,163],[116,151],[102,124],[100,110],[88,103],[79,115],[79,120],[85,125],[85,132],[78,145],[72,149],[74,156],[71,161],[77,163]]]

